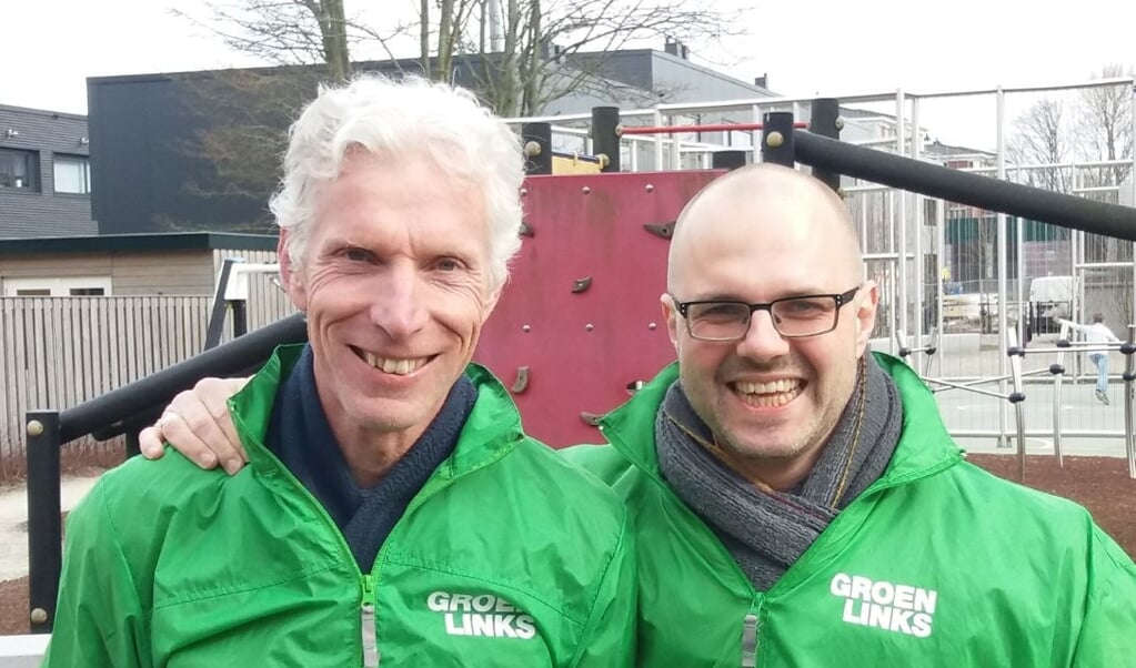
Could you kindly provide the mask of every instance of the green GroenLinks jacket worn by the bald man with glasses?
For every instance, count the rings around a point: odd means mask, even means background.
[[[675,366],[603,420],[615,449],[568,452],[632,512],[641,665],[1136,666],[1133,561],[1079,506],[966,462],[918,376],[878,357],[903,402],[895,454],[766,592],[659,474]]]

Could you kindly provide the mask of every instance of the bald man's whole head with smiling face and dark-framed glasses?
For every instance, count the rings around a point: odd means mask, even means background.
[[[844,202],[785,167],[732,172],[679,216],[667,282],[659,302],[694,412],[730,466],[792,489],[836,429],[876,323],[879,291]],[[732,339],[738,302],[749,318]],[[802,320],[812,334],[782,333]]]

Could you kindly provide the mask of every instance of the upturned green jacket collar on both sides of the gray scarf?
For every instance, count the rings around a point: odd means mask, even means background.
[[[903,427],[891,462],[869,490],[925,477],[958,462],[962,450],[946,433],[935,396],[924,382],[902,360],[882,352],[874,354],[899,390]],[[600,428],[612,446],[659,482],[662,477],[655,453],[654,416],[667,389],[677,379],[678,362],[671,362],[635,396],[600,420]]]

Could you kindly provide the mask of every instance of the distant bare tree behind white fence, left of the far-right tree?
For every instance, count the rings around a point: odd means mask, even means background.
[[[1010,161],[1018,166],[1068,162],[1071,151],[1067,125],[1063,102],[1052,99],[1035,102],[1013,120],[1006,148]],[[1028,169],[1020,177],[1027,185],[1056,192],[1069,192],[1072,187],[1069,170],[1062,167]]]

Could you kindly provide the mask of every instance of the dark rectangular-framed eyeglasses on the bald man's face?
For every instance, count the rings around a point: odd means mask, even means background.
[[[841,294],[804,294],[768,303],[729,300],[678,301],[675,308],[686,320],[686,331],[700,341],[741,341],[750,332],[753,311],[769,311],[774,328],[785,339],[827,334],[840,322],[841,307],[852,301],[860,286]]]

